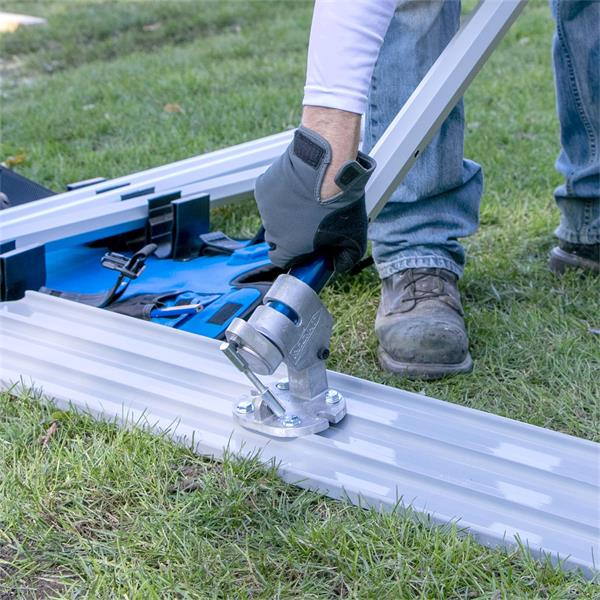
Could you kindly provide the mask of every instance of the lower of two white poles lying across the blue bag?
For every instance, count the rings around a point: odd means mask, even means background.
[[[194,181],[177,187],[177,190],[182,192],[182,197],[210,194],[211,206],[222,206],[250,197],[256,178],[267,167],[265,164],[248,171]],[[118,227],[120,231],[143,227],[148,218],[148,198],[152,196],[156,196],[156,192],[110,204],[90,202],[72,212],[41,212],[25,223],[3,226],[2,238],[6,241],[15,240],[20,248],[30,244],[63,241],[111,227]]]

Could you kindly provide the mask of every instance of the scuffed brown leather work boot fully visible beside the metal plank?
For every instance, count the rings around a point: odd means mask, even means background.
[[[457,277],[406,269],[383,280],[375,320],[379,362],[408,379],[439,379],[473,368]]]

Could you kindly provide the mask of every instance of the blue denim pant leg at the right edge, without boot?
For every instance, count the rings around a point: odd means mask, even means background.
[[[600,2],[551,0],[556,21],[554,78],[565,178],[554,195],[556,235],[570,243],[600,242]]]

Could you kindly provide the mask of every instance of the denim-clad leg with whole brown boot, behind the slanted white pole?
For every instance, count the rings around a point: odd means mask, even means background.
[[[459,0],[404,0],[375,66],[365,120],[370,150],[460,23]],[[370,227],[382,300],[379,359],[392,372],[435,378],[472,367],[457,277],[458,238],[478,226],[481,168],[463,158],[462,102]]]

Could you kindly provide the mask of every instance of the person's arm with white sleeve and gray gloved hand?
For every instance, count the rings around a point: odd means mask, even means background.
[[[364,190],[374,161],[358,151],[373,68],[397,0],[316,0],[302,125],[258,178],[273,264],[316,254],[347,271],[367,246]]]

